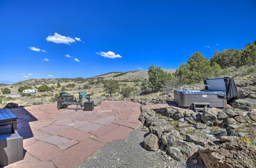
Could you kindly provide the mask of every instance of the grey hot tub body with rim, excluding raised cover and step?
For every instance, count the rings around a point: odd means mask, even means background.
[[[227,105],[226,92],[207,90],[175,90],[174,100],[181,107],[190,107],[195,104],[211,107],[225,107]]]

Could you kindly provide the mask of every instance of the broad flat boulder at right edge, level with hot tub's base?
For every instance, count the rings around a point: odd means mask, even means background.
[[[250,111],[256,108],[256,99],[238,99],[232,103],[232,107]]]

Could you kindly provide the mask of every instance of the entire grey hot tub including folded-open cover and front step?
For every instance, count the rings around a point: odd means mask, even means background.
[[[238,90],[233,78],[211,78],[204,80],[204,90],[175,90],[174,100],[180,107],[195,111],[207,107],[225,107],[227,101],[238,98]]]

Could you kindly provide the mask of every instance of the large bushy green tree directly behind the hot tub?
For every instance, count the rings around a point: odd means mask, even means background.
[[[186,64],[181,64],[176,70],[175,76],[180,77],[182,83],[198,83],[203,79],[211,77],[218,73],[221,67],[218,64],[210,65],[210,61],[206,59],[203,53],[196,52],[189,57]]]

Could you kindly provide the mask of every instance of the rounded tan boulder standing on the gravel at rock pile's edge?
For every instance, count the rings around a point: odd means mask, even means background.
[[[144,148],[150,151],[157,151],[159,149],[158,137],[153,133],[148,134],[143,141]]]

